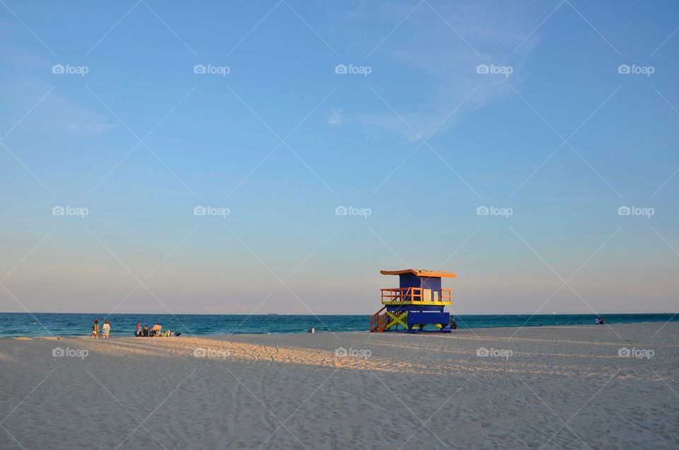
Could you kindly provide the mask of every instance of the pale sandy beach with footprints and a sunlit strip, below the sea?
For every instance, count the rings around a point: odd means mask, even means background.
[[[6,338],[0,448],[676,449],[661,325]]]

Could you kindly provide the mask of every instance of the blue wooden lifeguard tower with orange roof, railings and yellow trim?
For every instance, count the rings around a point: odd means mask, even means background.
[[[399,287],[382,291],[382,308],[370,318],[371,332],[423,330],[434,325],[450,333],[451,314],[443,311],[453,300],[453,289],[441,289],[441,278],[455,278],[452,272],[405,269],[380,270],[382,275],[398,275]]]

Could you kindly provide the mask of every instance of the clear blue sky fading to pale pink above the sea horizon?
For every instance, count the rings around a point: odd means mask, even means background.
[[[675,2],[0,23],[1,311],[373,313],[402,267],[458,273],[455,313],[677,309]]]

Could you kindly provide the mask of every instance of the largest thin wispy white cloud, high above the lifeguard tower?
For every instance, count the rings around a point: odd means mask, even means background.
[[[380,27],[370,27],[371,33],[361,39],[376,45],[391,32],[366,64],[371,64],[373,73],[392,71],[390,88],[382,88],[381,95],[401,117],[378,100],[373,110],[358,113],[357,121],[371,125],[372,132],[381,128],[401,134],[409,142],[417,141],[417,134],[428,135],[477,87],[474,95],[438,132],[453,127],[460,115],[512,96],[509,84],[521,85],[526,76],[521,63],[539,42],[539,33],[524,42],[511,58],[509,54],[557,3],[429,1],[431,7],[425,2],[415,11],[412,8],[416,4],[412,2],[361,5],[360,14],[356,13],[354,20],[381,23]],[[407,19],[400,23],[405,16]],[[511,66],[513,72],[511,76],[478,74],[480,64]],[[419,82],[412,83],[413,79]]]

